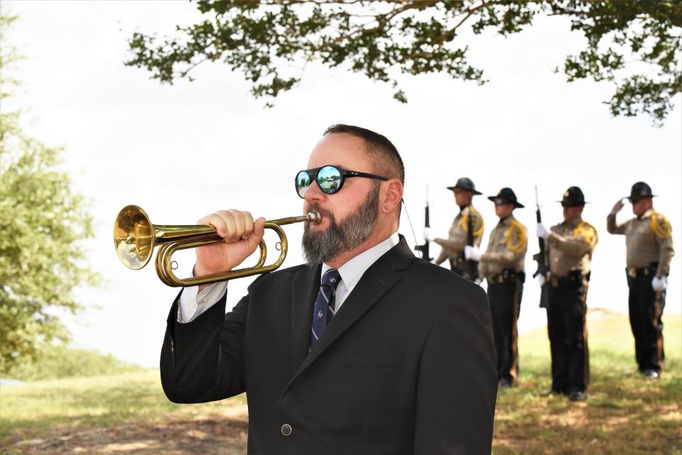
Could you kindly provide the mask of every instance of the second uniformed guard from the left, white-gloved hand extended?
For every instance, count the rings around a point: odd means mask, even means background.
[[[465,258],[480,261],[481,278],[488,282],[488,301],[492,314],[492,331],[497,351],[499,387],[509,388],[519,375],[518,331],[521,295],[524,290],[524,262],[528,249],[526,227],[514,218],[514,209],[523,208],[511,188],[502,188],[488,197],[495,204],[499,223],[490,233],[488,247],[465,247]]]

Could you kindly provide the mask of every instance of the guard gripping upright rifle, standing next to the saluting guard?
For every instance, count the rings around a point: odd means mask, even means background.
[[[578,187],[563,193],[563,222],[550,231],[538,223],[538,237],[545,239],[550,275],[538,275],[540,285],[550,286],[547,331],[552,355],[552,386],[545,395],[561,393],[571,401],[587,398],[590,355],[587,314],[590,261],[597,245],[597,230],[583,221],[585,195]]]

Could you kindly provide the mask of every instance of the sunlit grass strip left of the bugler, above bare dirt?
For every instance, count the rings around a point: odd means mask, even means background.
[[[55,427],[87,429],[223,415],[244,395],[200,405],[176,405],[161,389],[158,369],[137,373],[36,381],[2,388],[0,446],[45,437]]]

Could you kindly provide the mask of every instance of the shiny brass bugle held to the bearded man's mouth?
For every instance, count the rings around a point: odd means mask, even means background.
[[[284,262],[288,248],[286,234],[284,234],[284,229],[281,226],[301,223],[302,221],[319,223],[320,219],[318,212],[310,212],[303,216],[289,216],[288,218],[266,221],[265,229],[272,229],[279,236],[277,248],[279,258],[270,265],[264,265],[268,256],[268,249],[265,241],[261,239],[259,243],[260,257],[254,267],[185,278],[184,280],[173,273],[177,264],[175,261],[171,261],[171,256],[178,250],[222,242],[222,237],[216,233],[212,226],[203,224],[173,226],[151,224],[149,217],[141,207],[128,205],[121,209],[116,221],[114,221],[114,248],[116,248],[119,259],[127,268],[139,270],[147,265],[151,259],[154,247],[159,246],[158,253],[156,253],[156,273],[163,283],[173,287],[203,285],[276,270]]]

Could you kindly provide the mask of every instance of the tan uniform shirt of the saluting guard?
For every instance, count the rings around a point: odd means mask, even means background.
[[[611,234],[625,234],[628,267],[649,267],[651,263],[657,262],[659,268],[656,269],[656,275],[668,274],[675,250],[670,221],[664,214],[649,209],[642,216],[623,224],[617,224],[616,216],[609,214],[606,229]]]

